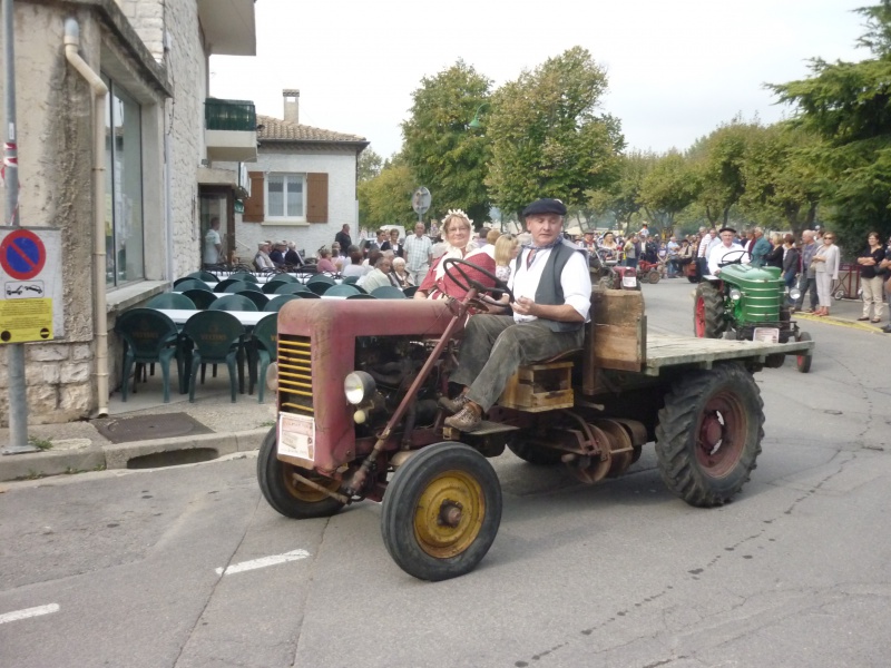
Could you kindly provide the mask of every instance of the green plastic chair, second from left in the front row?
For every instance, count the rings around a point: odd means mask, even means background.
[[[238,296],[238,295],[234,295]],[[224,311],[198,311],[186,321],[183,334],[193,344],[192,365],[188,375],[188,401],[195,403],[195,379],[198,366],[225,364],[229,371],[229,390],[235,403],[237,380],[236,360],[241,350],[244,327],[238,320]]]

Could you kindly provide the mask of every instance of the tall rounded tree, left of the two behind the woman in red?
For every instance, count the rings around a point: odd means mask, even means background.
[[[462,60],[412,94],[411,118],[402,124],[402,155],[415,178],[433,196],[433,213],[462,208],[482,222],[491,203],[486,189],[488,140],[468,122],[489,98],[491,81]]]

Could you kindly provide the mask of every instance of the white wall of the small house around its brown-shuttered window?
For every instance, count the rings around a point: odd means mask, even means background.
[[[350,225],[353,240],[359,239],[355,207],[355,164],[354,151],[349,154],[287,154],[284,149],[275,153],[264,151],[257,156],[256,165],[248,165],[251,171],[325,173],[327,177],[327,223],[301,223],[297,225],[272,225],[266,223],[244,223],[241,215],[235,216],[236,254],[243,259],[253,258],[257,244],[266,239],[293,240],[306,255],[315,256],[322,246],[331,246],[334,235],[344,224]],[[255,194],[252,193],[252,196]],[[248,252],[249,248],[251,250]],[[249,257],[247,257],[249,256]]]

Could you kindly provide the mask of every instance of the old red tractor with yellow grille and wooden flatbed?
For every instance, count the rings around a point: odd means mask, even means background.
[[[448,262],[469,291],[460,302],[322,298],[282,308],[268,380],[278,419],[257,461],[263,495],[288,518],[382,501],[386,550],[425,580],[463,574],[488,552],[501,489],[487,458],[506,448],[594,483],[624,473],[655,440],[675,494],[725,503],[761,452],[752,373],[774,348],[812,345],[648,336],[639,291],[597,288],[584,348],[521,366],[481,428],[461,433],[443,425],[437,400],[469,310],[505,291]]]

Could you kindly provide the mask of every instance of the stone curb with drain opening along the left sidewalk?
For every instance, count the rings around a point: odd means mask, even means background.
[[[0,458],[0,482],[82,473],[101,469],[160,469],[178,463],[210,461],[233,454],[257,450],[268,429],[254,429],[232,433],[212,433],[193,436],[175,436],[151,441],[134,441],[116,445],[90,445],[79,450],[30,452]],[[189,451],[195,451],[189,453]],[[184,453],[183,461],[158,463],[149,466],[131,466],[139,458],[167,452]],[[190,456],[192,455],[192,456]],[[158,458],[160,460],[160,458]]]

